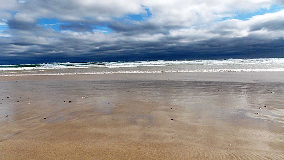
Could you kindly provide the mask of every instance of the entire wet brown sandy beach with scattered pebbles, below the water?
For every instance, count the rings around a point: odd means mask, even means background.
[[[0,153],[0,160],[284,160],[284,73],[0,77]]]

